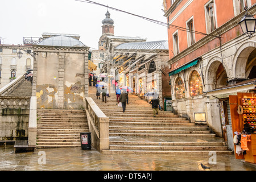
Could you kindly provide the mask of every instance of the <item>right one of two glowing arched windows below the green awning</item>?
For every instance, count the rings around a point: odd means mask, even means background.
[[[193,71],[189,80],[190,96],[203,94],[203,84],[197,71]]]

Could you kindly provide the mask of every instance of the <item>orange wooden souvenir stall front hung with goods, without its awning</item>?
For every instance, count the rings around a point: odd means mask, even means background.
[[[236,159],[256,163],[256,92],[229,96]]]

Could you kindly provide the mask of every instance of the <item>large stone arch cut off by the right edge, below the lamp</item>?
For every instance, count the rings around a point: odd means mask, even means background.
[[[255,59],[254,57],[249,59],[249,57],[255,55],[255,49],[256,42],[254,41],[246,42],[237,49],[232,68],[233,78],[246,79],[250,75],[255,65]]]

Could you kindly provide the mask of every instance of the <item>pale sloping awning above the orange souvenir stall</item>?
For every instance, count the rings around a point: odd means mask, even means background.
[[[249,92],[249,90],[255,89],[256,79],[245,80],[234,85],[223,86],[222,88],[210,90],[207,96],[210,100],[217,98],[227,98],[231,95],[237,95],[240,92]]]

